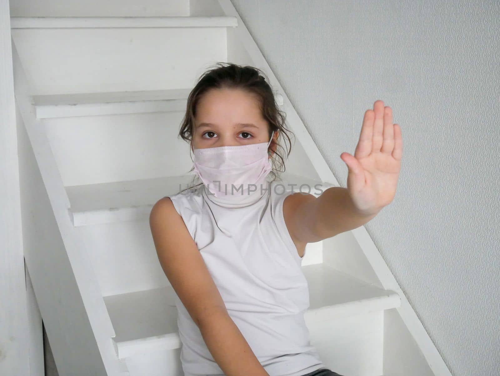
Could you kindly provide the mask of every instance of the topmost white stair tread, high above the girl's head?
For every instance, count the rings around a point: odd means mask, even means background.
[[[73,28],[225,28],[237,27],[236,17],[11,17],[10,29]]]

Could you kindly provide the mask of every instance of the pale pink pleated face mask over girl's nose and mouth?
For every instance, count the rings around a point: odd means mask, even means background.
[[[271,171],[267,148],[273,135],[259,144],[194,149],[194,171],[215,197],[259,191]]]

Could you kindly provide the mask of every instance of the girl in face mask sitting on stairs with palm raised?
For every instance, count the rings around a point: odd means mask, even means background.
[[[278,138],[290,138],[264,76],[218,63],[200,77],[179,134],[201,182],[161,198],[150,213],[176,292],[185,376],[338,375],[309,341],[305,245],[363,225],[395,193],[400,130],[385,107],[382,145],[381,101],[365,113],[356,157],[341,155],[348,188],[316,198],[278,183]]]

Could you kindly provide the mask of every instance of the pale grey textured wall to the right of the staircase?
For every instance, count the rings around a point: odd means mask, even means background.
[[[392,108],[400,181],[366,229],[452,374],[500,374],[500,2],[232,3],[342,186]]]

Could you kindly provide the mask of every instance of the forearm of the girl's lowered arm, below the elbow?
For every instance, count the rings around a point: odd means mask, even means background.
[[[227,313],[212,314],[200,320],[198,327],[213,359],[226,376],[269,376]]]

